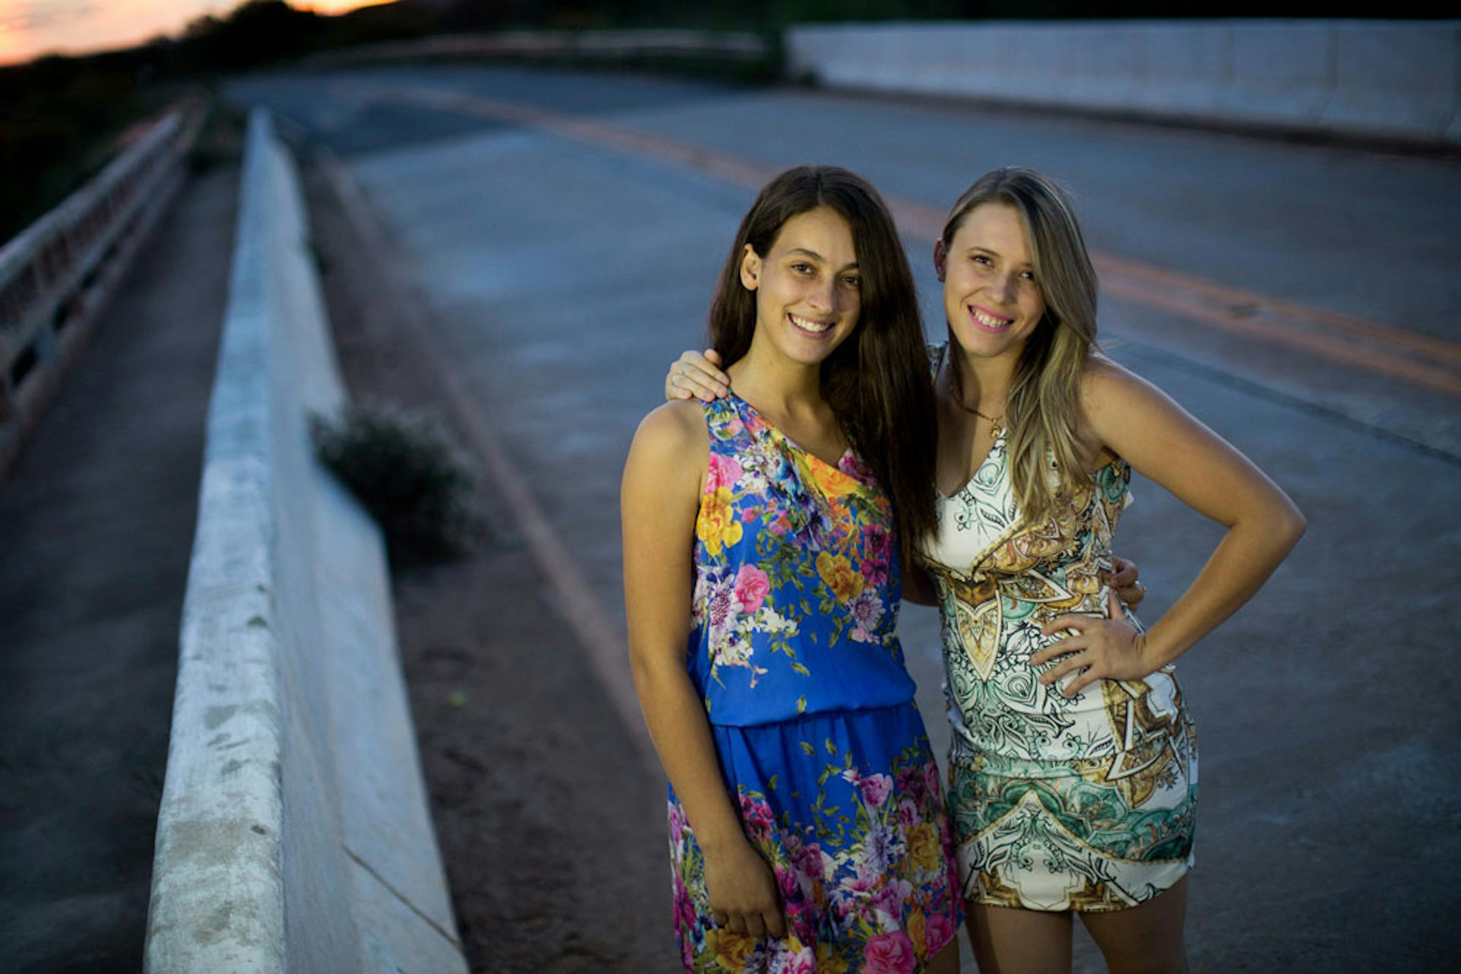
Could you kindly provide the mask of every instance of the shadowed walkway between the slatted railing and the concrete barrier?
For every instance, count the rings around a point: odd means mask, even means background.
[[[181,190],[0,483],[9,971],[142,965],[237,190]]]

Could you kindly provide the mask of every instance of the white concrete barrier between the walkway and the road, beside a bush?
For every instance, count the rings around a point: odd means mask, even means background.
[[[466,971],[380,532],[318,464],[345,402],[298,174],[250,121],[146,970]]]

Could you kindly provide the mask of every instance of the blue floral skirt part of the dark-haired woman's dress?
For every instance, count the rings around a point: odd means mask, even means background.
[[[738,770],[796,737],[805,758],[764,783],[735,787],[747,838],[771,866],[783,939],[719,930],[704,856],[671,793],[675,940],[687,971],[920,971],[958,929],[953,834],[938,767],[912,707],[820,714],[790,726],[714,727]],[[872,733],[869,733],[869,730]],[[891,761],[891,739],[918,735]],[[821,740],[815,737],[821,736]],[[856,739],[874,739],[855,753]],[[882,771],[875,768],[885,768]]]

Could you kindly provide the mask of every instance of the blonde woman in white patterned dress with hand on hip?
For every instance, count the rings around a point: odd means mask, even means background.
[[[1096,273],[1061,188],[995,169],[934,266],[938,533],[954,821],[979,968],[1064,973],[1078,914],[1112,971],[1186,970],[1197,737],[1173,662],[1236,612],[1305,529],[1246,457],[1096,348]],[[725,377],[688,353],[678,388]],[[1137,469],[1227,527],[1143,631],[1110,590]],[[904,594],[918,597],[918,572]]]

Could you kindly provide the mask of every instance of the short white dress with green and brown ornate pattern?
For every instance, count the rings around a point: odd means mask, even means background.
[[[1068,699],[1039,680],[1053,662],[1029,662],[1061,638],[1042,635],[1043,622],[1106,615],[1129,482],[1131,467],[1115,460],[1027,524],[999,432],[974,476],[939,495],[926,559],[942,612],[950,812],[970,902],[1122,910],[1192,864],[1197,732],[1173,667]]]

